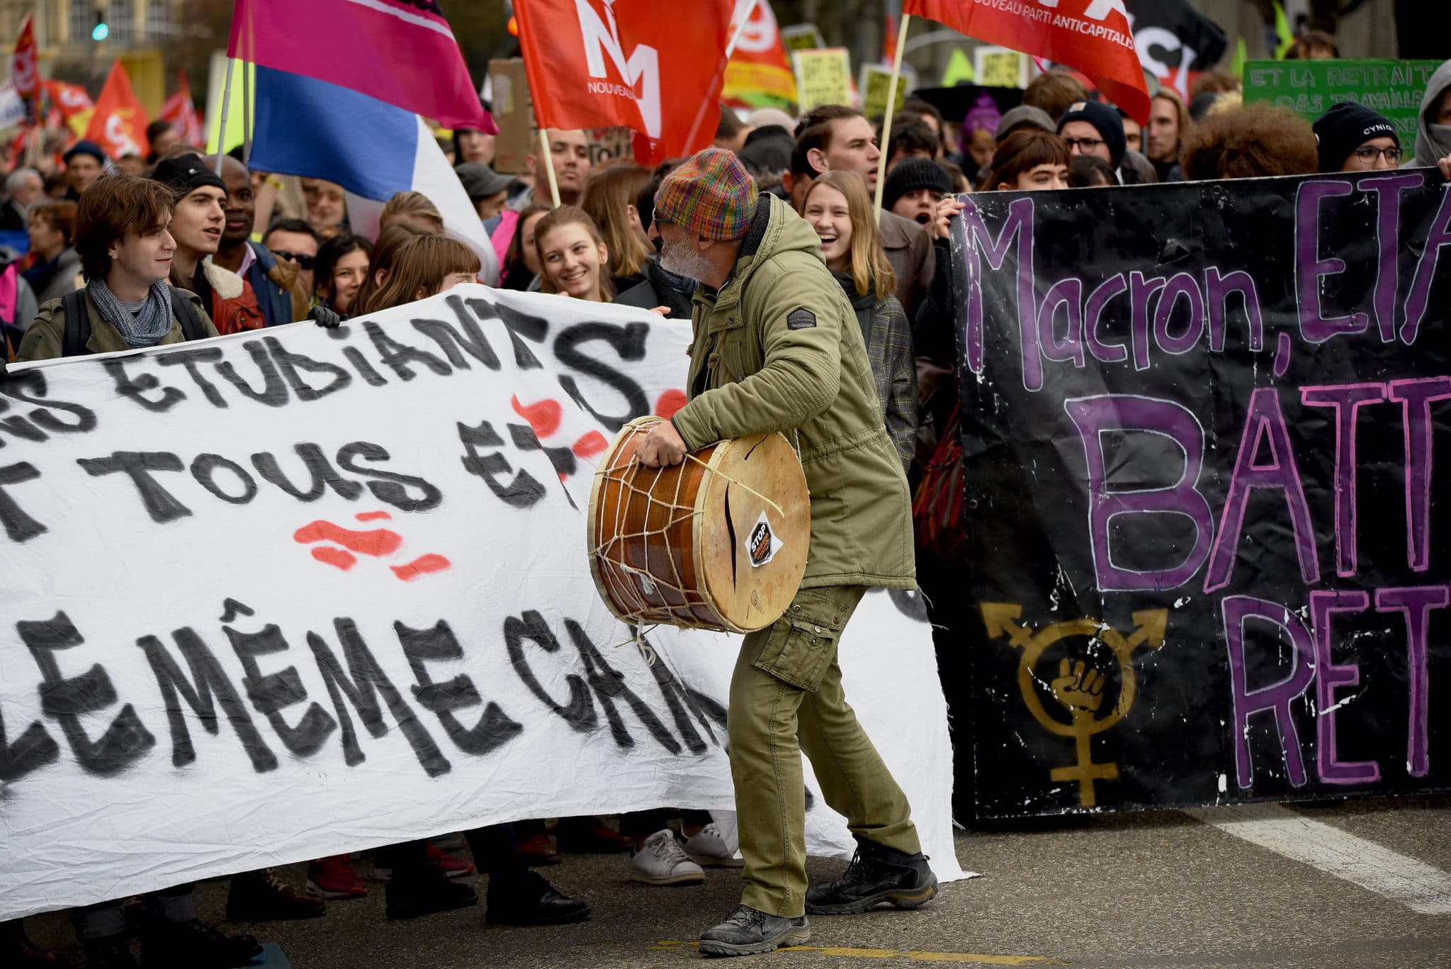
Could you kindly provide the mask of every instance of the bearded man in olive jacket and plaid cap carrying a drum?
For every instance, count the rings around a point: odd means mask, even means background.
[[[916,908],[937,891],[911,808],[842,692],[837,642],[871,587],[913,588],[907,477],[882,424],[862,330],[815,231],[728,151],[707,148],[654,198],[665,269],[698,280],[688,402],[654,424],[646,466],[718,440],[785,431],[811,494],[811,546],[795,600],[749,633],[731,676],[741,904],[701,936],[710,956],[811,937],[805,912]],[[801,753],[858,841],[837,880],[807,889]]]

